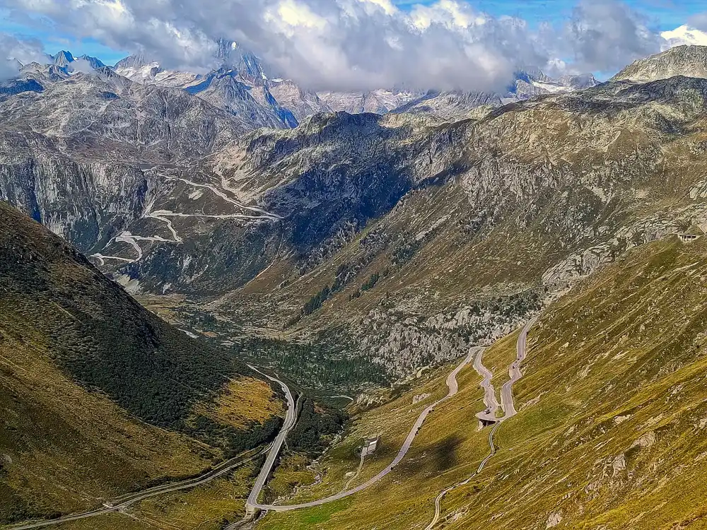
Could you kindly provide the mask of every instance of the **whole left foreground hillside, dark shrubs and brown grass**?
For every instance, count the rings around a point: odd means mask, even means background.
[[[192,476],[228,440],[190,423],[247,436],[281,410],[268,384],[238,378],[246,370],[233,358],[144,310],[2,203],[0,280],[0,522]],[[239,382],[257,390],[248,405],[234,399]]]

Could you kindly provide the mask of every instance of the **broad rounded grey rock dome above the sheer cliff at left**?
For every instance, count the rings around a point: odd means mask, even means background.
[[[132,83],[110,69],[76,73],[42,93],[18,94],[1,103],[0,113],[8,129],[43,134],[87,153],[140,153],[134,159],[205,155],[252,129],[183,90]]]

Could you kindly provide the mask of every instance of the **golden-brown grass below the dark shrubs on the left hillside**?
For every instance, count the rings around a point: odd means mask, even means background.
[[[24,327],[18,323],[18,327]],[[9,332],[9,333],[8,333]],[[154,479],[189,476],[210,452],[129,417],[52,363],[43,337],[0,342],[0,519],[74,512]]]

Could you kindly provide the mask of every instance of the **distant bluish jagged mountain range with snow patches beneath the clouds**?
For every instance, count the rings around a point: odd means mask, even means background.
[[[252,127],[289,129],[317,112],[410,112],[439,121],[467,117],[475,108],[500,106],[537,95],[571,92],[598,84],[592,74],[553,79],[539,69],[519,69],[506,90],[498,93],[415,91],[381,87],[352,92],[315,92],[269,73],[267,65],[235,42],[219,42],[218,67],[209,73],[164,69],[157,61],[132,55],[107,67],[95,57],[74,57],[61,51],[41,63],[21,65],[17,79],[0,84],[0,100],[24,91],[40,92],[50,83],[79,72],[110,68],[124,78],[147,86],[178,88],[221,110],[245,119]]]

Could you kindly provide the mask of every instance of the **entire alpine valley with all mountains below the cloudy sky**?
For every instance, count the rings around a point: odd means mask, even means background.
[[[498,93],[215,60],[0,86],[0,524],[707,528],[707,47]]]

